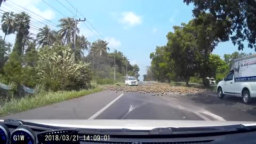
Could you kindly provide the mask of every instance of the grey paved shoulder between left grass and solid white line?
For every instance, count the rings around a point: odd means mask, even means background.
[[[0,119],[87,119],[113,101],[122,92],[103,90],[53,105],[22,111]]]

